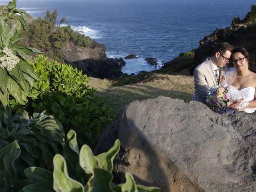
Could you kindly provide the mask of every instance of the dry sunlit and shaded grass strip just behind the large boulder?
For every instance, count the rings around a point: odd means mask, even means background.
[[[167,96],[188,102],[194,92],[192,76],[156,73],[135,84],[112,86],[112,81],[91,78],[88,85],[98,90],[97,94],[106,100],[114,114],[118,114],[125,104],[134,100]]]

